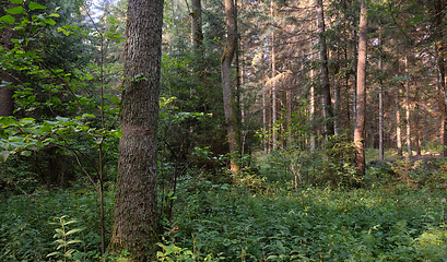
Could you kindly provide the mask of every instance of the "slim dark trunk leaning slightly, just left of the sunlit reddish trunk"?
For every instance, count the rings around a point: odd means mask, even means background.
[[[316,1],[317,21],[318,21],[318,41],[320,55],[320,80],[321,80],[321,98],[322,98],[322,116],[325,118],[326,136],[332,135],[333,131],[333,110],[329,85],[329,70],[328,70],[328,53],[326,48],[325,37],[325,14],[322,9],[322,0]]]

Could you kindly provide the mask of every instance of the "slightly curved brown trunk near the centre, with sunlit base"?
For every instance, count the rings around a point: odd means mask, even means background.
[[[222,93],[225,111],[225,121],[227,130],[227,140],[231,157],[231,170],[233,176],[239,172],[239,166],[236,162],[236,155],[239,150],[239,135],[237,129],[237,114],[235,97],[232,85],[232,60],[234,58],[237,45],[236,38],[236,13],[233,0],[225,0],[225,16],[226,16],[226,45],[222,55]]]

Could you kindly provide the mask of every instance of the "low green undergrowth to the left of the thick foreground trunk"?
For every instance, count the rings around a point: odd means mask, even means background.
[[[107,190],[106,225],[111,225],[113,205],[114,192]],[[73,239],[82,240],[82,243],[72,246],[79,251],[73,253],[73,260],[97,261],[101,257],[97,249],[97,243],[101,242],[97,209],[96,191],[84,186],[55,191],[36,190],[30,194],[10,196],[0,204],[0,261],[48,260],[46,255],[57,248],[54,242],[55,228],[48,223],[52,223],[54,217],[61,217],[64,214],[77,217],[79,223],[75,228],[83,229],[77,233],[75,238],[72,238],[74,235],[71,234],[67,236],[66,243]],[[60,228],[61,226],[58,227]],[[110,236],[109,230],[107,227],[107,240]],[[66,235],[68,231],[70,230],[66,228]],[[67,250],[70,246],[71,243]]]

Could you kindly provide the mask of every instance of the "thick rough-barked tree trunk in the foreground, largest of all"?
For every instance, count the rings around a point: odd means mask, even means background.
[[[157,230],[156,154],[163,0],[129,0],[111,249],[151,261]]]

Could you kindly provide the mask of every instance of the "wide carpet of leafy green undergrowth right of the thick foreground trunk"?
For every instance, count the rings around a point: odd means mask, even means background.
[[[445,255],[445,203],[437,195],[313,188],[254,194],[202,184],[178,201],[173,222],[178,230],[163,246],[174,261],[176,255],[181,261],[439,261]]]

